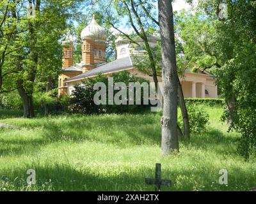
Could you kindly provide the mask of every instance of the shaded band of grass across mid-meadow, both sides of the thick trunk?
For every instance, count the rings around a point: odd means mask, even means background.
[[[10,149],[0,147],[1,155],[22,154],[24,149],[36,147],[49,143],[69,142],[102,142],[113,143],[118,147],[129,145],[161,145],[160,115],[70,115],[61,117],[49,117],[43,119],[25,120],[20,124],[21,128],[33,130],[35,136],[40,135],[38,140],[26,141],[22,138],[17,140],[4,140],[0,142],[9,143]],[[38,129],[39,128],[39,129]],[[12,131],[6,129],[4,131]],[[31,134],[31,133],[29,133]],[[218,129],[208,129],[201,134],[191,135],[191,142],[184,143],[185,146],[196,147],[205,150],[213,150],[216,154],[235,153],[239,138],[228,136]],[[16,147],[15,147],[16,146]],[[35,147],[35,148],[33,148]]]

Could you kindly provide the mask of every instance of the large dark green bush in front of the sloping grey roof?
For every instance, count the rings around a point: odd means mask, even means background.
[[[127,94],[129,93],[129,82],[139,82],[142,84],[143,82],[147,82],[143,78],[134,77],[131,73],[127,71],[122,71],[120,73],[115,73],[112,75],[114,80],[114,85],[117,82],[124,82],[127,89]],[[93,101],[93,98],[96,92],[93,89],[94,85],[97,82],[102,82],[107,87],[106,99],[108,101],[108,77],[99,75],[95,78],[90,78],[84,81],[81,84],[75,85],[75,90],[72,92],[72,96],[70,97],[70,110],[74,113],[138,113],[144,110],[148,110],[149,105],[96,105]],[[148,83],[148,82],[147,82]],[[142,90],[142,89],[141,89]],[[114,96],[120,90],[114,91]],[[135,94],[135,93],[134,93]],[[128,101],[128,98],[125,98]],[[141,91],[141,102],[143,101],[143,91]],[[127,102],[128,104],[128,102]],[[143,104],[143,103],[141,103]]]

